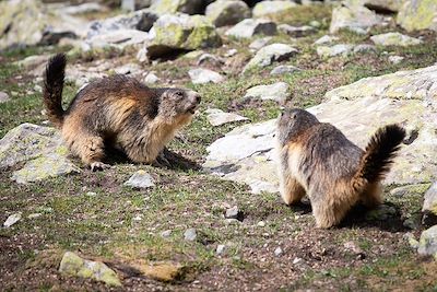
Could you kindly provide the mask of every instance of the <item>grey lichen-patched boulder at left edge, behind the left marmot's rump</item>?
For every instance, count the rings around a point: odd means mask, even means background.
[[[0,140],[0,170],[21,162],[24,166],[12,175],[21,184],[80,171],[54,128],[32,124],[20,125]]]

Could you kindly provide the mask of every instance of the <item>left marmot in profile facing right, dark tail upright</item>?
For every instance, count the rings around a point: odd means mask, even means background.
[[[102,162],[105,147],[121,150],[133,162],[154,163],[176,130],[191,121],[201,100],[194,91],[151,89],[114,75],[87,84],[63,110],[66,65],[63,54],[48,61],[44,104],[69,149],[93,171],[107,166]]]

